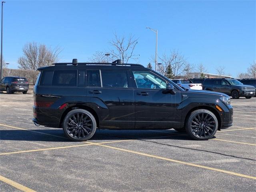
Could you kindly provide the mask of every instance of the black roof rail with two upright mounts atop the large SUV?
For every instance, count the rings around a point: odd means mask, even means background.
[[[59,66],[59,65],[62,65],[62,66],[80,66],[80,65],[112,65],[112,66],[136,66],[136,67],[143,67],[143,65],[141,64],[124,64],[122,63],[122,60],[118,59],[118,60],[115,60],[113,61],[112,63],[78,63],[77,59],[73,59],[72,60],[72,63],[53,63],[52,65],[55,65],[55,66]]]

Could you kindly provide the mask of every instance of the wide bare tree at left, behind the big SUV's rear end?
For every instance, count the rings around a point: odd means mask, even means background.
[[[25,70],[36,70],[42,66],[49,66],[58,61],[58,55],[61,52],[59,47],[52,50],[46,45],[36,42],[25,44],[22,51],[23,56],[18,59],[18,64],[20,69]]]

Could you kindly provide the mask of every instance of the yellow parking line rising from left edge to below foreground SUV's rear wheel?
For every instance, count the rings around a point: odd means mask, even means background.
[[[132,141],[132,140],[117,140],[117,141],[108,141],[108,142],[100,142],[98,144],[106,144],[106,143],[116,143],[116,142],[123,142],[123,141]],[[85,143],[87,143],[85,141]],[[52,148],[44,148],[44,149],[34,149],[34,150],[25,150],[25,151],[16,151],[16,152],[7,152],[7,153],[0,153],[0,155],[8,155],[8,154],[16,154],[16,153],[27,153],[27,152],[35,152],[35,151],[46,151],[46,150],[54,150],[54,149],[65,149],[65,148],[72,148],[72,147],[80,147],[80,146],[88,146],[94,145],[97,143],[87,143],[82,145],[72,145],[72,146],[64,146],[64,147],[52,147]]]

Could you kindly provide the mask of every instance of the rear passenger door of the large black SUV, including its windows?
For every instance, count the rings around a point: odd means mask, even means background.
[[[102,128],[134,129],[134,95],[127,70],[87,70],[88,102],[101,111]]]

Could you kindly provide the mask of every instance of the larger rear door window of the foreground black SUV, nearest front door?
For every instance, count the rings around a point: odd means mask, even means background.
[[[126,71],[101,71],[102,87],[128,88]]]

